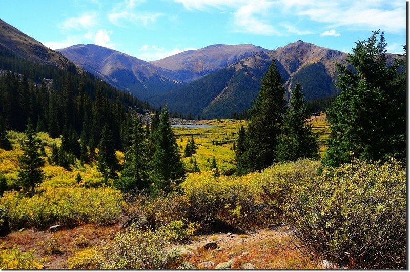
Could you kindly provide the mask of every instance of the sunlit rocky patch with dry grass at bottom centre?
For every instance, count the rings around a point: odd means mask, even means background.
[[[212,240],[213,236],[207,236],[206,240]],[[222,237],[218,243],[220,250],[199,249],[188,261],[198,268],[202,268],[199,264],[204,261],[215,263],[207,269],[232,259],[232,269],[241,269],[245,263],[253,263],[257,269],[321,269],[320,260],[309,254],[309,250],[299,250],[306,248],[297,248],[301,245],[300,241],[283,229],[260,230],[251,235],[235,235],[235,238],[226,234],[219,237]]]

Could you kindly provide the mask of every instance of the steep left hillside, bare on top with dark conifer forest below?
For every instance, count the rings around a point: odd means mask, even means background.
[[[78,157],[79,135],[84,134],[84,143],[90,143],[93,151],[107,124],[113,145],[120,149],[120,126],[127,112],[143,113],[148,105],[3,21],[1,27],[1,128],[24,131],[31,123],[52,137],[64,135],[72,139],[67,151]]]

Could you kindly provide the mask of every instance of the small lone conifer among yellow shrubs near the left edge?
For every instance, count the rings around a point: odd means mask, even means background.
[[[34,195],[35,185],[43,180],[40,167],[44,166],[45,161],[40,157],[41,141],[36,138],[30,121],[25,134],[26,139],[22,142],[23,155],[18,157],[20,170],[17,176],[19,184],[27,191],[31,190],[31,195]]]

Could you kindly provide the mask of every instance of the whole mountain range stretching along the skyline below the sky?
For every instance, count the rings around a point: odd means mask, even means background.
[[[147,62],[93,44],[53,51],[1,20],[0,29],[0,45],[20,57],[56,67],[71,65],[78,71],[83,68],[153,106],[167,104],[171,112],[202,118],[229,118],[249,109],[273,60],[288,98],[296,82],[306,100],[338,94],[335,63],[344,63],[347,57],[299,40],[274,50],[216,44]],[[389,60],[395,56],[387,55]]]

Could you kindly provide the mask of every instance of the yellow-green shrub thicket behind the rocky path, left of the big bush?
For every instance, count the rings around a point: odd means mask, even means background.
[[[242,177],[219,176],[213,172],[188,174],[180,184],[185,192],[188,219],[204,222],[222,220],[240,228],[256,228],[281,219],[280,205],[294,186],[291,177],[309,180],[316,175],[320,162],[300,160],[293,163],[273,165],[262,173]],[[206,224],[203,228],[206,228]]]

